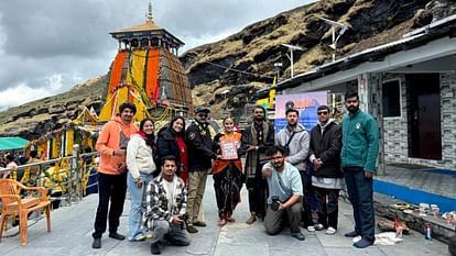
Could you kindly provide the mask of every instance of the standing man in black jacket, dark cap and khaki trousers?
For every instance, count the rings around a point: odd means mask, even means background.
[[[195,121],[186,131],[186,143],[188,149],[188,233],[196,233],[195,225],[205,226],[198,221],[199,207],[202,205],[204,190],[206,188],[207,174],[211,167],[211,159],[216,159],[214,142],[210,137],[207,115],[210,110],[204,107],[195,109]]]

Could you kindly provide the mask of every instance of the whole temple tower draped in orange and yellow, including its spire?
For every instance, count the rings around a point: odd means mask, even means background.
[[[110,120],[126,101],[137,104],[137,121],[185,115],[193,109],[188,78],[177,58],[184,43],[154,23],[150,3],[143,24],[110,34],[119,49],[110,67],[100,121]]]

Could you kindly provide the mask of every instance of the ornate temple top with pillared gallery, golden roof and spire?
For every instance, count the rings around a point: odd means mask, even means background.
[[[145,22],[140,25],[124,27],[109,33],[119,41],[119,51],[131,48],[165,47],[177,55],[184,42],[155,24],[152,16],[152,4],[149,3]]]

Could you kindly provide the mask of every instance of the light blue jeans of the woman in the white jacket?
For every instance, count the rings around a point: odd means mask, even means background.
[[[133,180],[133,177],[128,174],[127,186],[130,191],[130,215],[128,219],[128,240],[133,241],[140,238],[145,234],[146,230],[142,226],[142,214],[145,211],[145,189],[149,182],[152,180],[152,174],[140,174],[142,186],[138,188]]]

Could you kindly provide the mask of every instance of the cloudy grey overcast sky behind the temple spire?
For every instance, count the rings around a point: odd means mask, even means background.
[[[311,0],[152,0],[155,23],[185,42],[221,40]],[[145,21],[149,0],[0,1],[0,110],[66,91],[108,71],[109,32]]]

